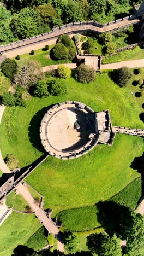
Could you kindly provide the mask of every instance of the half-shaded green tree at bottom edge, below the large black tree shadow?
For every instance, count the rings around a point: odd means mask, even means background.
[[[90,252],[99,256],[122,256],[121,247],[116,236],[110,237],[104,232],[87,237],[87,246]]]

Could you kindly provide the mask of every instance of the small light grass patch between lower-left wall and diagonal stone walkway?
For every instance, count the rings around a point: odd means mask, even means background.
[[[12,191],[7,196],[7,206],[13,207],[16,210],[26,211],[27,202],[21,195],[16,195],[14,191]]]

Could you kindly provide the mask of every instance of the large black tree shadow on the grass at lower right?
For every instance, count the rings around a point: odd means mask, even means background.
[[[125,230],[128,228],[128,223],[133,219],[130,209],[113,201],[100,201],[97,203],[97,208],[98,222],[107,234],[110,236],[116,234],[117,237],[124,240]]]

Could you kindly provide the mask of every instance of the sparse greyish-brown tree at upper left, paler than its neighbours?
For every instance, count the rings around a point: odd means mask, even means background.
[[[43,78],[41,63],[39,61],[21,62],[15,77],[15,83],[20,84],[23,88],[29,88]]]

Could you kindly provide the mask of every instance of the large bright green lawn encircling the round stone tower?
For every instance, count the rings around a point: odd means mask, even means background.
[[[119,88],[107,72],[97,74],[91,84],[77,83],[73,78],[66,82],[67,95],[32,98],[26,108],[5,109],[0,125],[4,158],[15,154],[23,167],[42,155],[41,118],[48,106],[65,100],[79,100],[95,111],[109,108],[113,125],[143,128],[139,119],[141,103],[130,93],[133,85]],[[109,199],[140,175],[130,164],[142,153],[142,138],[117,135],[113,147],[100,144],[79,159],[63,161],[50,156],[26,181],[44,196],[45,208],[53,208],[53,214],[67,208],[90,206]]]

